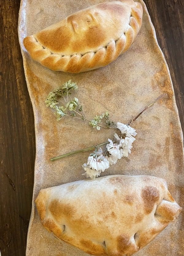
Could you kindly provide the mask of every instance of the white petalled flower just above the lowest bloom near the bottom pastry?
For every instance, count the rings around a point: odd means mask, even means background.
[[[107,161],[107,159],[105,159],[103,155],[100,155],[97,158],[95,157],[95,155],[89,156],[87,165],[89,165],[91,169],[99,171],[99,173],[109,168],[109,162]]]

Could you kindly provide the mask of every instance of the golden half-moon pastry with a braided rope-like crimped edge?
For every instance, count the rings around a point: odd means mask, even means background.
[[[100,3],[25,37],[33,58],[55,71],[79,73],[108,65],[135,40],[143,9],[133,0]]]

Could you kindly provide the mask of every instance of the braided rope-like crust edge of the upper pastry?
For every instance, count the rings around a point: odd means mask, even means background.
[[[125,33],[116,41],[110,41],[108,45],[96,52],[88,52],[84,55],[73,54],[71,56],[52,53],[44,48],[34,35],[25,37],[24,46],[33,60],[54,71],[79,73],[106,66],[130,48],[140,30],[143,8],[139,2],[135,2],[135,4],[136,7],[132,7],[130,22]]]

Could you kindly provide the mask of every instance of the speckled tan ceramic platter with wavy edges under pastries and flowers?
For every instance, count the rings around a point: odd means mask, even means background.
[[[141,1],[141,0],[140,0]],[[183,136],[166,61],[155,36],[148,11],[130,49],[108,66],[85,73],[54,72],[33,61],[23,39],[67,15],[105,0],[22,0],[18,33],[25,77],[33,104],[36,160],[33,206],[27,239],[27,256],[84,256],[81,250],[60,241],[40,223],[34,200],[41,188],[84,179],[82,164],[88,152],[51,162],[51,157],[102,143],[112,137],[111,129],[90,128],[80,120],[60,122],[44,100],[49,91],[69,79],[78,83],[78,97],[89,117],[109,110],[113,120],[128,123],[162,93],[168,96],[144,112],[132,125],[138,133],[128,158],[123,158],[103,175],[154,175],[167,180],[177,203],[184,199]],[[136,256],[184,255],[182,213]]]

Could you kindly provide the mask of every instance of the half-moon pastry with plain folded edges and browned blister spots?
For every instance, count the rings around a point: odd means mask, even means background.
[[[93,255],[132,255],[154,239],[181,207],[165,180],[112,175],[42,189],[41,223],[58,238]]]

